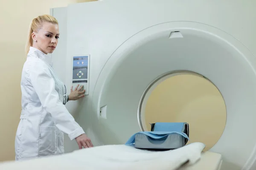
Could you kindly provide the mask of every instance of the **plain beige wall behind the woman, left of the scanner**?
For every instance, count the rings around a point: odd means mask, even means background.
[[[20,117],[20,76],[33,17],[49,9],[93,0],[0,0],[0,161],[15,159],[14,140]],[[61,39],[60,39],[61,41]]]

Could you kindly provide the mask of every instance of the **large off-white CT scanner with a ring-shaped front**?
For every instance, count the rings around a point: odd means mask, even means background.
[[[61,33],[51,55],[55,70],[67,89],[79,83],[87,91],[67,108],[95,146],[124,144],[145,130],[142,102],[155,82],[196,73],[221,92],[227,122],[202,154],[203,167],[194,169],[256,169],[255,6],[253,0],[102,0],[52,8]],[[83,81],[73,77],[78,56],[88,57]],[[68,139],[65,147],[77,149]]]

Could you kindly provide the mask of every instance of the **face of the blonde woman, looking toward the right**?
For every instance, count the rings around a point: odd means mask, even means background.
[[[33,47],[44,52],[45,54],[52,53],[59,38],[59,29],[57,24],[43,23],[42,28],[37,33],[32,33]]]

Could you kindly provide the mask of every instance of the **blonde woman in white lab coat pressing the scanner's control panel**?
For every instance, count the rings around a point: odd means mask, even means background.
[[[70,95],[64,96],[65,86],[47,56],[55,50],[58,38],[58,21],[54,17],[42,15],[32,20],[21,76],[22,111],[15,138],[16,160],[64,153],[64,133],[71,140],[76,139],[80,149],[93,147],[64,106],[69,100],[84,97],[85,91],[78,86],[73,91],[72,87]]]

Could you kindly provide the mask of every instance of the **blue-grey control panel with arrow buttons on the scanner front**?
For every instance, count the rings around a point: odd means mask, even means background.
[[[89,58],[89,55],[73,57],[72,85],[73,88],[83,85],[81,90],[85,90],[85,95],[89,94]]]

